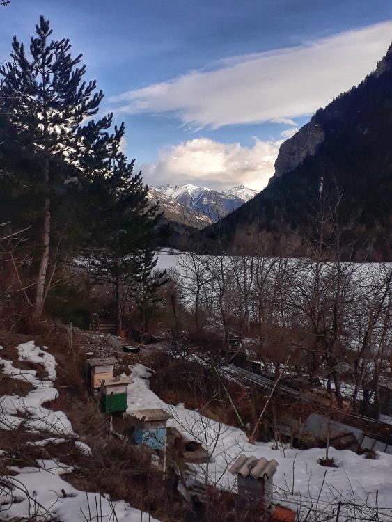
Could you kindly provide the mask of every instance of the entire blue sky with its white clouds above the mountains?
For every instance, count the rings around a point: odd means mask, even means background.
[[[40,14],[83,52],[149,184],[261,189],[281,141],[392,40],[389,0],[11,0],[1,59]]]

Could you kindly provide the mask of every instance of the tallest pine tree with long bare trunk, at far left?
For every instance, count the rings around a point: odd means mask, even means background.
[[[70,176],[69,166],[74,167],[72,178],[75,173],[77,178],[83,177],[81,168],[102,174],[107,168],[105,158],[109,149],[119,142],[124,132],[121,126],[109,134],[111,114],[83,125],[86,118],[97,113],[103,93],[96,92],[95,81],[83,80],[86,66],[79,66],[81,54],[71,57],[69,40],[49,41],[50,35],[49,21],[41,16],[36,37],[31,38],[30,58],[15,36],[10,54],[12,61],[0,67],[1,112],[8,116],[18,143],[26,150],[33,150],[40,159],[36,199],[42,201],[42,223],[41,250],[34,276],[35,320],[42,315],[51,279],[51,256],[58,248],[52,244],[55,184],[58,187],[66,182]]]

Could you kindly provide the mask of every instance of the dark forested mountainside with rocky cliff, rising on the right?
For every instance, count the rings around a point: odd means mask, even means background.
[[[389,259],[392,224],[392,46],[361,84],[319,109],[285,141],[275,174],[255,198],[222,219],[226,243],[262,230],[274,239],[304,230],[327,196],[342,193],[340,219],[354,216],[354,258]],[[205,237],[215,237],[217,226]],[[276,242],[275,242],[276,244]]]

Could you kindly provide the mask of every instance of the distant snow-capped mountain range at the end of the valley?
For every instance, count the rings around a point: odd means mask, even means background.
[[[159,201],[166,219],[189,226],[207,226],[233,212],[256,196],[257,191],[237,185],[217,191],[196,185],[161,185],[149,187],[151,203]]]

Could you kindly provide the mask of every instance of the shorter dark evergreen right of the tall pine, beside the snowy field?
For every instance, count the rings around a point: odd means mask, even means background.
[[[95,191],[100,220],[92,227],[91,266],[95,280],[111,283],[116,301],[118,333],[122,329],[121,294],[132,285],[132,278],[142,271],[143,256],[153,255],[157,245],[158,223],[162,218],[159,205],[148,204],[148,187],[141,172],[134,175],[134,160],[127,157],[113,143],[109,172],[95,176],[91,191]]]

